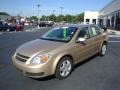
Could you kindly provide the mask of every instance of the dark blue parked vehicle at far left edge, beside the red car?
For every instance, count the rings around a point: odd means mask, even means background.
[[[9,25],[6,22],[0,21],[0,31],[15,31],[16,27],[14,25]]]

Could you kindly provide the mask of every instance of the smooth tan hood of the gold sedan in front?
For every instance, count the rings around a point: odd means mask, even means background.
[[[36,53],[49,53],[65,44],[64,42],[36,39],[21,45],[16,52],[31,57]]]

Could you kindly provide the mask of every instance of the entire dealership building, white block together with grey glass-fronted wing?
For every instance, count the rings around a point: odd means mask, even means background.
[[[85,11],[84,24],[98,24],[101,27],[120,30],[120,0],[112,0],[99,12]]]

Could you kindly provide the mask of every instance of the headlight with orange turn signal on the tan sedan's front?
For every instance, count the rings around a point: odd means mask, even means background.
[[[50,59],[49,55],[37,55],[33,57],[33,59],[30,61],[30,64],[38,65],[38,64],[46,63],[49,59]]]

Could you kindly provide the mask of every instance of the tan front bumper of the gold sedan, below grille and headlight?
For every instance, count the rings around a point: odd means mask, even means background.
[[[41,78],[53,75],[51,63],[29,65],[17,60],[14,56],[12,57],[12,62],[24,75],[32,78]]]

